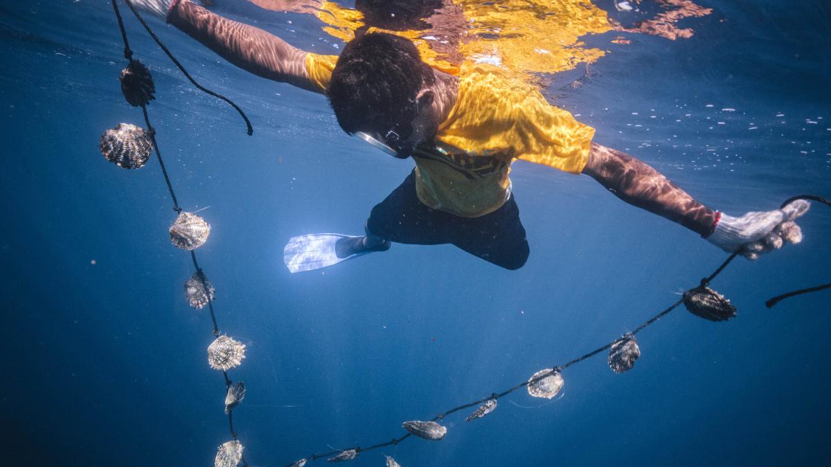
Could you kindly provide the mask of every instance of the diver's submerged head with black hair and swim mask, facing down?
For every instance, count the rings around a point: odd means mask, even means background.
[[[412,42],[373,32],[344,47],[327,96],[344,131],[368,135],[403,158],[438,130],[433,84],[434,71]]]

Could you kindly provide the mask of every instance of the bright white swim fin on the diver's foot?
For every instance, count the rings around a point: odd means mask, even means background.
[[[283,248],[283,261],[291,273],[302,273],[327,268],[347,259],[371,253],[366,251],[338,258],[335,245],[341,238],[362,238],[362,235],[308,234],[292,237],[288,239],[286,248]]]

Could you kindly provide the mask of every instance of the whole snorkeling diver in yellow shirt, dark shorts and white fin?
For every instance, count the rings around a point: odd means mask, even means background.
[[[529,244],[509,179],[516,159],[589,175],[628,204],[746,258],[802,239],[794,219],[808,201],[741,217],[710,209],[641,160],[594,142],[593,128],[497,66],[465,62],[458,74],[440,71],[410,40],[384,32],[357,35],[340,57],[317,55],[192,0],[131,1],[243,70],[326,95],[347,134],[415,161],[371,210],[365,235],[291,238],[284,259],[293,273],[386,251],[393,242],[452,243],[502,268],[521,268]]]

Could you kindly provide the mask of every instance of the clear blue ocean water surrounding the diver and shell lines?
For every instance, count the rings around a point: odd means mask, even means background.
[[[308,17],[215,3],[298,47],[337,53]],[[553,76],[548,96],[596,127],[598,142],[728,214],[831,195],[828,3],[701,4],[714,13],[686,20],[689,40],[586,37],[607,57],[582,86],[567,86],[573,73]],[[199,81],[243,107],[248,137],[125,19],[154,72],[150,114],[179,202],[207,208],[213,231],[199,260],[219,326],[248,345],[231,374],[248,387],[234,427],[250,465],[385,442],[403,420],[631,331],[725,259],[588,177],[518,162],[531,245],[519,271],[451,246],[396,244],[292,275],[289,237],[360,234],[411,161],[344,135],[324,97],[250,76],[151,22]],[[610,43],[617,35],[632,44]],[[224,383],[205,361],[209,315],[182,297],[192,265],[170,246],[175,213],[159,167],[119,170],[97,147],[106,128],[141,123],[118,89],[110,2],[2,2],[0,42],[2,464],[210,465],[229,439]],[[518,391],[484,420],[448,417],[439,443],[407,440],[386,454],[405,467],[825,465],[829,292],[764,305],[831,276],[831,209],[814,204],[800,224],[803,243],[737,261],[713,283],[738,307],[730,322],[676,310],[638,335],[632,371],[615,375],[597,356],[564,373],[556,401]],[[371,451],[355,463],[383,460]]]

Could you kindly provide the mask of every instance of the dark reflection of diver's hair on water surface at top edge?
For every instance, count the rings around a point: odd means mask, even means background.
[[[356,0],[355,9],[364,16],[366,27],[388,31],[424,30],[425,18],[442,7],[442,0]]]

